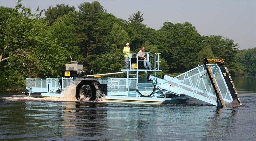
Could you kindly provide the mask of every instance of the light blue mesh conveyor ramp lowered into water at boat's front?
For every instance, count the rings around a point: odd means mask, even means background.
[[[216,61],[217,64],[208,64],[208,61]],[[223,60],[204,59],[204,65],[179,76],[157,78],[156,87],[163,93],[185,94],[216,106],[242,105],[228,69],[223,64]]]

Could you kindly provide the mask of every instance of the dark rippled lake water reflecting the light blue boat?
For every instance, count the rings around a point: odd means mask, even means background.
[[[256,77],[232,78],[243,106],[140,105],[0,94],[0,140],[252,141]]]

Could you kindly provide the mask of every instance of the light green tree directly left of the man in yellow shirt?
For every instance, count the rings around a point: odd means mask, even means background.
[[[90,58],[90,66],[100,73],[119,72],[124,69],[124,55],[122,52],[125,44],[129,41],[128,33],[119,24],[114,23],[108,35],[108,44],[102,47],[100,55]]]

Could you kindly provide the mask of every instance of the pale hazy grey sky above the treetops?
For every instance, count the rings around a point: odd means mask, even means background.
[[[133,13],[143,13],[143,24],[159,30],[164,22],[190,22],[201,36],[220,35],[233,39],[239,49],[256,47],[256,0],[98,0],[117,18],[128,21]],[[22,0],[32,12],[57,4],[75,6],[84,0]],[[14,8],[17,0],[0,0],[0,6]],[[42,15],[44,17],[44,14]]]

